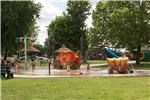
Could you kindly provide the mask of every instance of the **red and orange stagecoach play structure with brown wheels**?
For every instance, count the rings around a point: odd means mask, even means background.
[[[58,69],[65,63],[66,66],[69,66],[71,70],[79,69],[79,59],[81,56],[78,56],[78,52],[79,51],[77,51],[77,53],[74,53],[73,51],[59,52],[57,58],[53,61],[54,68]]]

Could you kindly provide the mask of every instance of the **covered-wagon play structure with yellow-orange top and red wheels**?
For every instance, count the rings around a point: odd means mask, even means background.
[[[128,58],[107,58],[108,62],[108,72],[110,74],[118,73],[130,73],[130,67],[128,62]]]

